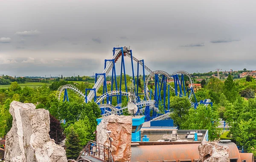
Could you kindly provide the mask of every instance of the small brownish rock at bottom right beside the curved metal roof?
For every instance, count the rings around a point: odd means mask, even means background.
[[[202,142],[198,146],[200,159],[198,162],[230,162],[229,148],[217,142]]]

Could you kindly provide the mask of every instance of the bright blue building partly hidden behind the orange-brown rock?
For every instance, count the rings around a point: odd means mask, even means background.
[[[99,123],[104,118],[105,117],[101,117],[101,118],[96,119],[97,124],[99,125]],[[132,132],[131,132],[131,141],[132,142],[141,141],[140,129],[141,129],[142,124],[144,123],[144,121],[145,121],[145,116],[133,116],[133,118],[132,118]]]

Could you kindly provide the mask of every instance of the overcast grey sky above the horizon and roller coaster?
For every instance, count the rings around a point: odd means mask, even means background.
[[[131,46],[152,70],[255,70],[255,6],[255,0],[0,0],[0,74],[102,73],[116,45]],[[131,74],[129,58],[125,64]]]

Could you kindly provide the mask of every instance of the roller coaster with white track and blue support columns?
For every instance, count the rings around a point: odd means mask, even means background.
[[[130,92],[128,92],[126,73],[125,73],[125,57],[131,58],[131,71],[132,71],[132,84]],[[120,76],[124,74],[123,77],[120,77],[119,83],[117,82],[117,73],[116,73],[116,62],[121,60],[121,70]],[[137,63],[137,76],[134,71],[134,61]],[[143,70],[143,82],[144,90],[143,93],[139,93],[139,67]],[[145,70],[149,74],[145,75]],[[111,90],[107,88],[106,76],[111,75]],[[190,87],[185,86],[184,76],[187,76]],[[99,77],[98,77],[99,76]],[[154,90],[148,89],[148,83],[154,78]],[[174,82],[174,87],[170,86],[167,80],[172,79]],[[123,83],[124,82],[124,83]],[[96,96],[96,92],[103,84],[103,95]],[[122,84],[125,86],[125,91],[122,91]],[[119,86],[118,86],[119,85]],[[170,91],[173,91],[176,96],[182,97],[187,96],[189,101],[191,101],[192,107],[196,108],[198,104],[208,104],[212,105],[212,102],[209,99],[200,101],[199,103],[196,100],[194,93],[194,81],[192,76],[183,70],[179,70],[169,74],[167,72],[157,70],[153,71],[149,69],[145,64],[144,60],[138,60],[132,54],[132,50],[129,47],[119,47],[113,48],[113,57],[110,60],[105,60],[104,71],[102,73],[96,73],[95,76],[95,85],[92,89],[86,89],[85,94],[82,93],[78,88],[71,84],[67,84],[59,87],[56,97],[60,100],[61,94],[64,91],[64,100],[68,101],[67,89],[72,90],[80,97],[84,98],[84,101],[95,101],[100,109],[102,110],[102,116],[108,116],[111,114],[121,115],[125,112],[128,112],[132,115],[144,115],[145,121],[156,121],[169,119],[170,113]],[[87,94],[87,92],[89,92]],[[162,93],[161,93],[162,92]],[[162,94],[162,95],[161,95]],[[167,105],[166,103],[167,95]],[[128,104],[127,106],[122,106],[122,96],[126,96]],[[144,97],[142,97],[144,96]],[[117,104],[112,104],[113,97],[116,97]],[[141,97],[141,98],[140,98]],[[195,102],[192,102],[194,98]],[[163,104],[162,104],[163,103]],[[160,113],[159,107],[163,107],[164,112]]]

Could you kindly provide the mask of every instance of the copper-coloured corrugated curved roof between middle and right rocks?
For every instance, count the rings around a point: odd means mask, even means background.
[[[132,162],[199,159],[200,144],[145,145],[131,147]]]

